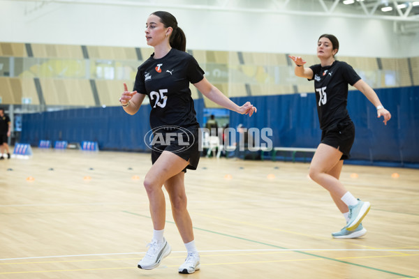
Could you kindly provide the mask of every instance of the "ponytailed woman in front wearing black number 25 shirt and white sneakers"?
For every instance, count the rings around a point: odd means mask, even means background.
[[[184,174],[186,169],[196,169],[200,152],[199,124],[189,83],[205,97],[228,110],[251,116],[256,112],[256,107],[249,102],[236,105],[207,81],[197,61],[185,52],[184,32],[170,13],[158,11],[149,15],[145,24],[145,38],[147,45],[154,47],[154,53],[138,67],[133,91],[128,91],[124,84],[125,91],[119,99],[126,113],[135,114],[145,96],[149,97],[152,106],[149,123],[154,139],[157,139],[151,144],[153,165],[144,179],[154,232],[138,267],[155,269],[171,251],[168,241],[163,237],[166,221],[164,185],[170,197],[173,218],[188,252],[184,264],[179,267],[179,273],[193,273],[200,269],[200,257],[193,237],[191,217],[186,209]]]

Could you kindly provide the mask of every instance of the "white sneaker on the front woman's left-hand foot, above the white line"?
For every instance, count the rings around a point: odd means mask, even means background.
[[[147,250],[145,256],[138,262],[139,269],[155,269],[160,265],[161,260],[172,252],[172,248],[166,239],[163,239],[162,243],[152,241],[148,243],[147,247],[149,247],[149,250]]]

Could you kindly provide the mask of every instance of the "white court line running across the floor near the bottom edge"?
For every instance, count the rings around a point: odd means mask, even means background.
[[[248,249],[248,250],[199,250],[199,252],[263,252],[263,251],[300,251],[300,252],[314,252],[314,251],[370,251],[370,252],[419,252],[419,249]],[[172,253],[184,253],[186,251],[172,251]],[[125,253],[105,253],[105,254],[84,254],[84,255],[59,255],[59,256],[44,256],[44,257],[14,257],[10,259],[0,259],[0,261],[10,261],[16,259],[46,259],[54,257],[89,257],[89,256],[107,256],[107,255],[140,255],[145,252],[125,252]]]

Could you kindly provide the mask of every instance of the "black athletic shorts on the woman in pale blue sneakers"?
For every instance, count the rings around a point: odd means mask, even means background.
[[[341,160],[350,158],[353,140],[355,140],[355,126],[351,122],[338,123],[335,128],[323,130],[321,133],[321,143],[335,147],[341,151]]]

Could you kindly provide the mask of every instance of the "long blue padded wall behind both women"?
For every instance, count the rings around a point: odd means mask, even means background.
[[[347,163],[419,166],[419,86],[377,89],[392,119],[384,126],[375,107],[360,91],[348,94],[348,111],[355,123],[355,142]],[[251,118],[230,112],[230,128],[273,130],[273,146],[317,147],[321,138],[314,93],[232,98],[258,107]],[[195,100],[198,122],[203,126],[203,99]],[[94,141],[100,149],[148,151],[143,137],[149,130],[149,105],[130,116],[121,107],[95,107],[24,114],[21,142],[36,146],[39,140]]]

